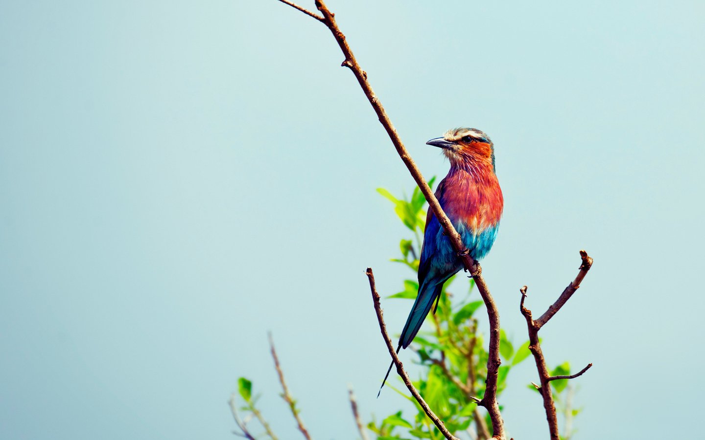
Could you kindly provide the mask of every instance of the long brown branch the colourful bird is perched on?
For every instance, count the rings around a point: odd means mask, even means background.
[[[350,46],[348,45],[347,39],[345,38],[345,34],[343,34],[343,32],[341,32],[340,28],[338,27],[338,23],[336,23],[335,19],[335,14],[333,14],[329,10],[328,6],[326,6],[323,0],[316,0],[316,7],[318,8],[319,12],[323,15],[322,23],[324,23],[324,25],[328,27],[328,29],[331,31],[331,34],[333,34],[333,38],[335,38],[336,42],[338,42],[338,46],[340,46],[341,51],[343,51],[345,60],[341,65],[350,68],[350,70],[355,75],[357,82],[360,84],[360,87],[362,87],[362,91],[364,92],[365,96],[367,96],[367,100],[374,109],[377,118],[379,118],[379,122],[384,127],[384,130],[386,130],[389,139],[391,139],[392,144],[394,144],[394,148],[399,154],[399,157],[406,165],[406,168],[409,170],[410,174],[414,178],[421,192],[424,194],[424,197],[429,203],[429,208],[431,208],[434,215],[436,215],[436,219],[439,220],[439,223],[445,231],[446,237],[448,237],[448,239],[450,240],[450,244],[453,246],[455,252],[458,253],[458,257],[460,257],[460,260],[462,260],[462,264],[465,266],[465,270],[467,272],[470,272],[472,278],[475,281],[475,284],[477,284],[478,290],[480,292],[480,295],[482,296],[482,300],[484,301],[487,309],[487,315],[489,318],[490,325],[488,351],[489,356],[487,360],[487,384],[484,398],[482,399],[482,402],[479,403],[479,405],[484,406],[489,412],[490,418],[492,420],[492,432],[494,434],[493,438],[504,440],[504,422],[502,420],[502,415],[499,412],[499,404],[497,402],[497,378],[499,366],[501,365],[501,360],[499,358],[499,313],[497,311],[496,304],[494,303],[494,299],[489,293],[489,289],[487,288],[487,285],[484,282],[484,279],[482,278],[482,268],[480,268],[479,263],[477,263],[470,257],[469,251],[465,248],[465,245],[462,243],[460,234],[458,234],[458,231],[455,230],[455,227],[453,227],[453,224],[450,222],[450,219],[448,219],[446,213],[443,212],[441,204],[436,199],[436,196],[434,196],[433,192],[431,191],[431,188],[429,187],[429,184],[426,182],[426,180],[424,180],[421,171],[419,171],[419,168],[416,166],[416,163],[409,155],[409,152],[407,151],[401,138],[399,137],[396,128],[389,119],[379,99],[377,99],[376,94],[374,94],[372,86],[367,81],[367,73],[362,70],[360,64],[357,63],[357,59],[355,59],[355,55],[353,54],[352,49],[350,49]],[[301,10],[300,8],[298,9]],[[307,13],[307,15],[312,14]]]

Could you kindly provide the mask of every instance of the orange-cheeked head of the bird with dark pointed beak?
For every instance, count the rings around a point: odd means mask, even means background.
[[[494,144],[477,128],[454,128],[427,144],[443,149],[450,165],[460,168],[491,165],[494,170]]]

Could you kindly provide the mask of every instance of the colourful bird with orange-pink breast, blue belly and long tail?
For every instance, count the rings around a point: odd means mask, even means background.
[[[436,188],[436,199],[460,234],[470,257],[480,260],[494,244],[504,208],[496,175],[494,144],[487,134],[469,127],[448,130],[443,137],[426,144],[441,148],[450,162],[448,175]],[[462,268],[460,256],[436,215],[429,210],[419,260],[419,291],[401,332],[397,353],[411,344],[434,302],[438,307],[443,284]],[[389,365],[382,386],[393,365]]]

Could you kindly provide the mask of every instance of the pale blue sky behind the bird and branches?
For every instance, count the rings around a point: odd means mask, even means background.
[[[510,336],[519,287],[541,310],[594,256],[542,330],[551,364],[595,365],[575,439],[697,420],[704,4],[329,6],[424,175],[448,128],[494,140]],[[410,275],[374,189],[412,180],[325,27],[275,0],[11,0],[0,41],[0,438],[229,439],[240,375],[297,438],[267,330],[315,438],[355,438],[348,383],[366,419],[403,406],[374,398],[363,271],[382,294]],[[398,332],[410,304],[383,306]],[[535,377],[501,399],[517,439],[546,438]]]

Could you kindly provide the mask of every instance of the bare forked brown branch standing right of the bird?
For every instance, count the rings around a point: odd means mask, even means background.
[[[536,363],[537,370],[539,370],[539,379],[541,379],[540,386],[534,384],[533,382],[532,384],[536,387],[539,393],[541,393],[541,397],[544,398],[544,410],[546,410],[546,421],[548,422],[548,432],[551,434],[551,440],[559,440],[560,437],[558,434],[556,403],[553,402],[553,392],[551,391],[550,382],[556,379],[574,379],[575,377],[578,377],[584,372],[586,372],[589,367],[592,366],[592,364],[588,364],[587,367],[584,367],[580,372],[577,372],[575,375],[551,376],[551,374],[548,372],[548,367],[546,367],[546,358],[544,358],[544,352],[541,351],[541,343],[539,341],[539,329],[541,329],[541,327],[546,324],[546,322],[548,322],[548,320],[550,320],[553,315],[556,315],[558,310],[560,310],[560,308],[563,307],[565,302],[570,299],[570,296],[572,296],[572,294],[575,293],[578,287],[580,287],[580,282],[582,282],[582,279],[587,274],[587,271],[590,270],[592,265],[592,258],[587,255],[587,252],[580,251],[580,258],[582,258],[582,265],[580,265],[580,272],[578,272],[578,275],[577,277],[575,277],[575,280],[568,284],[568,287],[563,290],[563,293],[560,294],[560,297],[558,298],[556,303],[553,303],[553,305],[549,307],[548,310],[546,310],[546,313],[541,315],[541,318],[539,318],[538,320],[534,321],[532,319],[531,310],[524,306],[527,297],[527,287],[524,286],[520,289],[522,299],[519,303],[519,309],[521,310],[522,315],[524,315],[524,318],[526,318],[527,321],[527,329],[529,331],[529,350],[532,352],[532,355],[534,355],[534,362]]]

